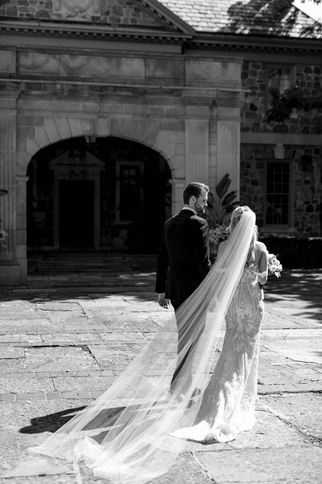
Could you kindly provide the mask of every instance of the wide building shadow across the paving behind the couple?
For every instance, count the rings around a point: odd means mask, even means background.
[[[105,284],[83,282],[81,286],[72,283],[51,287],[21,287],[3,289],[0,293],[0,301],[21,301],[30,302],[64,302],[66,300],[90,298],[92,301],[104,299],[104,305],[109,297],[116,295],[121,298],[131,296],[133,302],[155,302],[151,311],[157,306],[157,296],[154,292],[155,272],[131,272],[115,275],[109,278]],[[278,302],[281,297],[288,300],[301,301],[303,312],[300,316],[307,319],[318,319],[322,313],[322,269],[289,269],[284,270],[278,279],[273,275],[269,276],[264,287],[265,299],[270,302]],[[126,299],[125,299],[126,300]],[[304,302],[304,304],[303,304]],[[108,305],[107,305],[108,307]],[[306,311],[314,309],[315,311]],[[86,316],[86,315],[84,315]],[[321,320],[322,323],[322,320]]]

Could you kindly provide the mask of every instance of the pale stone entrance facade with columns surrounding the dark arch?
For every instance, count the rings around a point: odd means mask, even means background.
[[[1,64],[1,69],[6,69],[3,75],[15,71],[16,76],[27,79],[27,82],[8,79],[1,103],[6,108],[2,120],[7,120],[2,121],[7,126],[3,133],[9,130],[11,143],[7,140],[2,151],[1,169],[7,173],[11,166],[12,177],[18,183],[13,190],[13,180],[1,178],[1,188],[10,192],[10,196],[2,197],[1,219],[11,234],[1,258],[15,263],[12,283],[23,282],[27,274],[27,170],[34,156],[42,156],[45,151],[41,150],[50,150],[55,143],[77,137],[88,140],[113,137],[153,150],[170,173],[172,207],[167,216],[181,209],[187,182],[202,180],[213,191],[221,173],[239,171],[239,142],[232,142],[239,139],[240,126],[242,93],[238,59],[200,60],[189,55],[160,53],[116,56],[112,50],[105,55],[95,51],[84,55],[77,51],[67,53],[66,49],[48,50],[47,53],[41,49],[17,54],[10,49],[0,52],[5,60]],[[222,166],[218,164],[218,149],[224,160]],[[155,176],[158,175],[151,173],[151,178]],[[101,177],[103,182],[106,173],[102,172]],[[50,175],[48,183],[39,201],[47,211],[44,243],[52,247],[55,215]],[[234,176],[232,188],[238,190],[238,187],[239,178]],[[112,192],[109,196],[114,199]],[[103,198],[104,208],[107,200]],[[100,227],[100,246],[110,248],[111,239],[114,242],[118,239],[126,248],[125,227],[115,224],[107,227],[106,220],[105,217]],[[98,232],[95,233],[98,238]],[[28,243],[33,246],[39,241]],[[57,244],[56,247],[59,248]],[[4,265],[1,267],[3,270]],[[8,271],[14,274],[13,267]],[[2,273],[0,284],[7,283],[8,271]]]

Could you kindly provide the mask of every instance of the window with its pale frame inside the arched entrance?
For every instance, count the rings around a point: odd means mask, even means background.
[[[117,162],[116,219],[132,222],[143,207],[143,163]]]

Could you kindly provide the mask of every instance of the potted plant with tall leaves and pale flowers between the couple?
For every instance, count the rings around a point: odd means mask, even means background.
[[[209,192],[208,206],[205,209],[204,218],[209,226],[209,247],[210,260],[213,263],[217,257],[217,251],[220,242],[227,239],[227,225],[231,212],[237,205],[240,205],[238,200],[235,200],[237,192],[233,190],[228,192],[232,180],[229,178],[229,173],[220,180],[215,188],[215,195]]]

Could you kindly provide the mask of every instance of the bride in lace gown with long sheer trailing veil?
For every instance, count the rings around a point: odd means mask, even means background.
[[[185,439],[228,441],[254,425],[264,310],[257,282],[267,280],[268,257],[249,207],[234,210],[228,231],[216,264],[176,318],[100,398],[32,452],[84,460],[95,476],[115,484],[144,484],[171,468]],[[224,320],[223,348],[210,376]],[[169,392],[176,362],[191,345]]]

